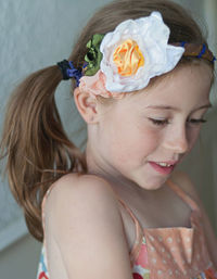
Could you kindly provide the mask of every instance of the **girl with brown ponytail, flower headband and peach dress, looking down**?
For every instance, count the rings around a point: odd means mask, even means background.
[[[31,234],[38,279],[217,278],[217,240],[186,174],[210,106],[215,56],[191,16],[162,0],[115,1],[68,60],[24,80],[1,150]],[[54,102],[73,80],[81,153]]]

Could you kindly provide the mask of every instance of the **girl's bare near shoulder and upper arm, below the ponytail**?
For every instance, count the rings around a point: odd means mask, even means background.
[[[60,248],[67,278],[132,279],[122,217],[110,185],[94,176],[73,175],[58,183],[46,205],[47,238],[52,234]],[[49,241],[47,248],[49,257]]]

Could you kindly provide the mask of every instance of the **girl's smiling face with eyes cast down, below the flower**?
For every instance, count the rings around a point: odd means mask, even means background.
[[[104,106],[94,163],[100,172],[159,188],[195,143],[209,106],[212,71],[183,66],[151,88]]]

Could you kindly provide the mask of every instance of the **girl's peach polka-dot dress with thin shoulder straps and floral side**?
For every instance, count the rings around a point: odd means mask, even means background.
[[[167,180],[167,185],[191,207],[190,228],[142,229],[131,210],[117,196],[136,225],[137,238],[130,252],[133,279],[217,279],[217,270],[206,248],[199,206],[173,181]],[[43,199],[42,212],[50,190]],[[37,279],[49,279],[44,243]]]

